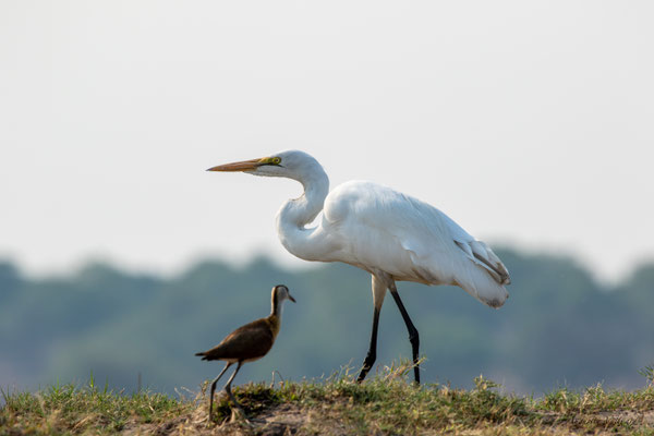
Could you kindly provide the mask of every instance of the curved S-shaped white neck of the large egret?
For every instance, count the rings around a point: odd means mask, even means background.
[[[329,178],[323,167],[316,165],[295,180],[304,186],[304,194],[281,206],[277,214],[277,231],[279,240],[289,252],[305,261],[314,261],[319,247],[312,243],[312,237],[317,228],[307,229],[305,226],[323,210],[325,197],[329,193]]]

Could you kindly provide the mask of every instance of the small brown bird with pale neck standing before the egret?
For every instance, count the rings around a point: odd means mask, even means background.
[[[222,374],[234,363],[238,363],[237,371],[227,382],[225,390],[229,396],[230,400],[234,405],[241,409],[241,405],[237,402],[237,399],[231,392],[231,383],[237,376],[241,365],[245,362],[253,362],[262,359],[270,351],[275,338],[279,332],[279,326],[281,325],[281,305],[284,300],[291,300],[293,303],[295,299],[289,293],[289,288],[283,284],[277,284],[272,288],[271,298],[272,310],[270,315],[254,320],[250,324],[245,324],[242,327],[237,328],[234,331],[229,334],[222,341],[210,349],[195,355],[202,355],[203,361],[226,361],[227,365],[218,374],[218,377],[211,383],[211,395],[209,397],[209,422],[214,411],[214,392],[216,391],[216,384],[222,377]]]

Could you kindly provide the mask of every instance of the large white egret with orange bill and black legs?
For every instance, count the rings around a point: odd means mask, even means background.
[[[482,303],[499,307],[509,296],[509,272],[488,245],[475,240],[437,208],[409,195],[365,181],[350,181],[329,193],[329,178],[316,159],[287,150],[261,159],[209,168],[293,179],[304,195],[287,201],[277,214],[282,245],[305,261],[343,262],[368,271],[373,289],[373,330],[359,382],[376,360],[379,311],[390,291],[412,346],[414,377],[420,383],[417,329],[396,281],[455,284]],[[323,211],[320,223],[311,223]]]

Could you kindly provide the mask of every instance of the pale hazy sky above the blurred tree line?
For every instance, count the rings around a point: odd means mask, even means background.
[[[654,257],[652,1],[0,3],[0,257],[174,274],[281,247],[298,148],[491,243]]]

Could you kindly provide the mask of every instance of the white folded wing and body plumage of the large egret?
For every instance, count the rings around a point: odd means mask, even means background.
[[[344,244],[340,254],[348,258],[338,261],[397,280],[458,284],[493,306],[508,296],[508,271],[485,243],[437,208],[387,186],[338,186],[326,198],[323,226]]]

